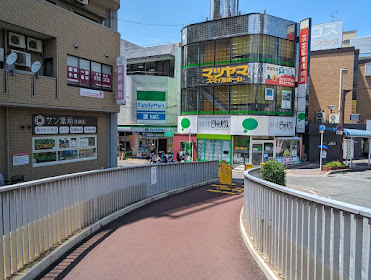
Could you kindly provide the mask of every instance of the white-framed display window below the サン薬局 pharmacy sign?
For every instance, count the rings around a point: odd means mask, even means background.
[[[33,166],[53,165],[97,158],[97,136],[33,138]]]

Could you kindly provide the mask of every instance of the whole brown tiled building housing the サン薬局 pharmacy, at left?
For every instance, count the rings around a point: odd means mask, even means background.
[[[1,1],[0,173],[7,181],[116,166],[119,7],[119,0]]]

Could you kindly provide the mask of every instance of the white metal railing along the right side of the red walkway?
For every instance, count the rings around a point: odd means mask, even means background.
[[[371,279],[371,209],[244,173],[243,223],[281,279]]]

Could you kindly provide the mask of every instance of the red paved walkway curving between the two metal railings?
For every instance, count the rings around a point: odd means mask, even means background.
[[[265,279],[239,231],[243,195],[202,187],[111,223],[43,279]]]

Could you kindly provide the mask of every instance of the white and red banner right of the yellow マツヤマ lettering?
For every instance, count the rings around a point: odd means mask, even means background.
[[[295,68],[265,64],[265,83],[284,87],[295,87]]]

